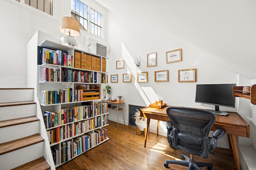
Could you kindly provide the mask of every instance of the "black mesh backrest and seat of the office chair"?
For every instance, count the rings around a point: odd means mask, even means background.
[[[216,121],[215,115],[208,111],[183,107],[169,107],[167,115],[174,126],[173,147],[190,154],[203,154],[205,150],[203,141],[208,140],[208,134]],[[206,151],[208,157],[207,148]]]

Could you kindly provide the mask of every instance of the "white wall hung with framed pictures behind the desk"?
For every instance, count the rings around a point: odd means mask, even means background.
[[[204,56],[189,51],[178,44],[168,41],[165,37],[159,36],[160,27],[150,23],[156,31],[149,31],[146,27],[122,18],[121,15],[108,11],[108,53],[107,72],[118,74],[118,83],[110,83],[112,96],[122,95],[125,102],[125,122],[128,125],[128,104],[137,106],[148,106],[154,103],[159,96],[169,106],[186,106],[196,108],[215,109],[214,106],[195,103],[196,84],[224,84],[236,83],[250,85],[250,80],[241,78],[230,70],[220,66],[218,61],[209,61]],[[182,48],[182,61],[166,64],[166,51]],[[157,52],[157,66],[147,67],[147,54]],[[134,66],[134,55],[141,56],[140,66]],[[124,59],[124,69],[116,69],[116,61]],[[178,82],[178,70],[197,68],[197,82]],[[169,70],[169,82],[154,82],[154,71]],[[148,72],[148,82],[136,82],[137,72]],[[122,74],[132,73],[132,82],[123,83]],[[238,99],[236,98],[237,106]],[[249,120],[250,100],[245,99],[245,112],[243,117]],[[226,111],[237,111],[236,108],[220,107]],[[123,123],[119,116],[119,122]],[[110,111],[110,120],[117,121],[116,111]],[[150,123],[150,131],[156,133],[156,121]],[[160,122],[161,135],[166,135],[166,123]],[[240,137],[243,138],[243,137]],[[240,140],[242,143],[250,144],[250,139]],[[219,140],[218,147],[228,147],[227,136]],[[241,143],[240,142],[240,143]]]

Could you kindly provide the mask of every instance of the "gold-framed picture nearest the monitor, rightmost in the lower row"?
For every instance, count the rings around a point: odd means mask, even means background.
[[[196,68],[178,70],[178,82],[196,82]]]

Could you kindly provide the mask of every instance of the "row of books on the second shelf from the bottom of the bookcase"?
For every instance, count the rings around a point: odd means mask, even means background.
[[[70,137],[75,137],[82,133],[86,133],[92,129],[102,127],[108,123],[108,115],[104,117],[94,117],[85,121],[75,122],[74,124],[67,124],[58,126],[54,129],[47,130],[48,141],[50,144],[58,143]]]

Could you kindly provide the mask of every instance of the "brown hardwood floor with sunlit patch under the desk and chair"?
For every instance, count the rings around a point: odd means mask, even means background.
[[[180,159],[181,150],[171,149],[167,137],[149,133],[144,148],[144,132],[136,135],[136,128],[109,121],[108,141],[88,150],[84,154],[56,168],[56,170],[187,170],[180,165],[169,164],[166,160]],[[210,162],[213,170],[235,170],[232,150],[215,148],[216,155],[208,159],[194,156],[195,161]],[[187,154],[189,157],[190,155]],[[202,170],[207,170],[203,167]]]

